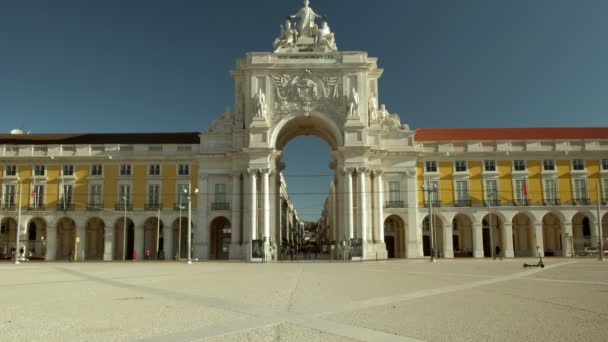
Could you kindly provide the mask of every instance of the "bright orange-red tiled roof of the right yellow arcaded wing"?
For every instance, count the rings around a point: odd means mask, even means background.
[[[608,139],[608,127],[419,128],[416,141]]]

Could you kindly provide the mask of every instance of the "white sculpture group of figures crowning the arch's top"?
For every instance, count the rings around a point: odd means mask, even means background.
[[[304,7],[298,13],[287,16],[285,26],[281,25],[281,35],[272,44],[275,52],[296,47],[297,44],[321,48],[324,51],[338,50],[335,36],[327,22],[323,22],[321,27],[315,24],[315,19],[326,19],[327,16],[315,13],[309,4],[309,0],[304,0]],[[299,21],[294,28],[291,20],[295,18]]]

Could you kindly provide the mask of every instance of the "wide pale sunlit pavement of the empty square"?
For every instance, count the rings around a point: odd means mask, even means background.
[[[608,262],[0,263],[2,341],[606,341]]]

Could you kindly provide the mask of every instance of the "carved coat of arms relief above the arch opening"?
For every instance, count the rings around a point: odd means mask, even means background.
[[[342,94],[340,73],[304,70],[270,77],[274,84],[272,123],[296,112],[323,113],[338,124],[344,123],[347,99]]]

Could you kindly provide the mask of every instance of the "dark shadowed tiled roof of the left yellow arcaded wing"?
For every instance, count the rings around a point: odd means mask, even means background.
[[[0,144],[198,144],[198,132],[185,133],[84,133],[84,134],[0,134]]]

